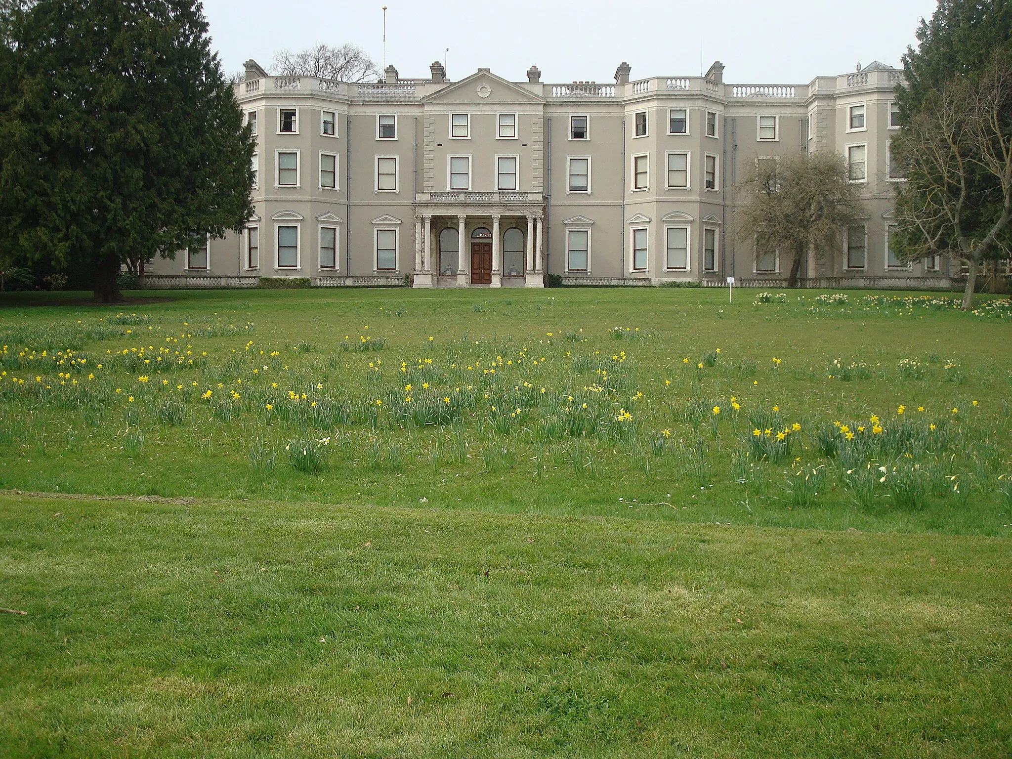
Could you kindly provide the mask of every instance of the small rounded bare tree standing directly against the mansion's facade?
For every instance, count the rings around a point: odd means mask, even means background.
[[[810,250],[839,250],[847,227],[861,214],[857,188],[838,153],[797,154],[756,161],[742,180],[752,199],[741,212],[740,235],[755,256],[791,257],[788,286],[796,287]]]

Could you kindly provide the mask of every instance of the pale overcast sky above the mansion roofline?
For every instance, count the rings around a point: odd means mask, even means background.
[[[513,81],[527,67],[541,81],[609,82],[621,61],[634,79],[696,76],[714,60],[725,81],[806,84],[853,71],[858,62],[892,66],[935,0],[204,0],[213,45],[225,71],[276,51],[352,43],[402,77],[427,77],[449,48],[457,80],[491,68]],[[701,63],[700,63],[701,62]],[[701,69],[701,71],[700,71]]]

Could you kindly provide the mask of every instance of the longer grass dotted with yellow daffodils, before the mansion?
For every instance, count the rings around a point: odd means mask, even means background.
[[[0,488],[1010,533],[1008,308],[668,288],[168,296],[2,297]],[[827,487],[799,498],[800,470]]]

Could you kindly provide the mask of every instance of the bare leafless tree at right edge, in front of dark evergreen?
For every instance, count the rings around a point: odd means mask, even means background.
[[[897,190],[898,255],[967,264],[962,309],[973,308],[981,262],[1009,254],[1012,220],[1012,58],[928,93],[894,138],[907,181]]]

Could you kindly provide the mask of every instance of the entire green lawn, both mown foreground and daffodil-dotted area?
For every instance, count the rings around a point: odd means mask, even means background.
[[[158,294],[0,293],[0,756],[1012,753],[1008,300]]]

